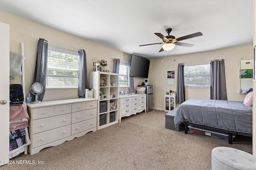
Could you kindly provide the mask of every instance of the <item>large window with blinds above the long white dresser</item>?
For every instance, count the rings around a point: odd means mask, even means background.
[[[48,48],[46,88],[78,88],[78,52]]]

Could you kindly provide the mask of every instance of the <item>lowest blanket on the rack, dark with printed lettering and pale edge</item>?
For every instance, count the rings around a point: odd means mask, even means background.
[[[10,146],[9,146],[9,158],[19,155],[24,152],[26,146],[30,145],[30,139],[28,136],[28,128],[18,129],[16,131],[10,131]]]

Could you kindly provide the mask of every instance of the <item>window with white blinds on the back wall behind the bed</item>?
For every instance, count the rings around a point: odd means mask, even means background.
[[[210,63],[184,65],[186,87],[210,87]]]

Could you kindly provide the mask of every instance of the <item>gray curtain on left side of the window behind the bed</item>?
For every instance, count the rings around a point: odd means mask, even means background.
[[[185,102],[184,64],[178,64],[176,103]]]

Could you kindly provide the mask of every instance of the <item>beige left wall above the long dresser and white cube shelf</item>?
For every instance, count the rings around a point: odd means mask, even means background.
[[[52,44],[72,48],[85,49],[88,72],[92,71],[92,63],[104,59],[108,61],[107,69],[113,70],[113,59],[129,62],[131,54],[123,53],[86,39],[70,35],[63,31],[20,18],[0,11],[0,21],[10,25],[10,51],[20,53],[20,43],[24,42],[25,56],[25,93],[26,96],[32,84],[34,74],[36,48],[39,38],[44,38]],[[141,84],[140,78],[134,78],[135,84]],[[21,77],[10,80],[10,84],[20,84]],[[46,90],[43,101],[78,98],[77,89]]]

